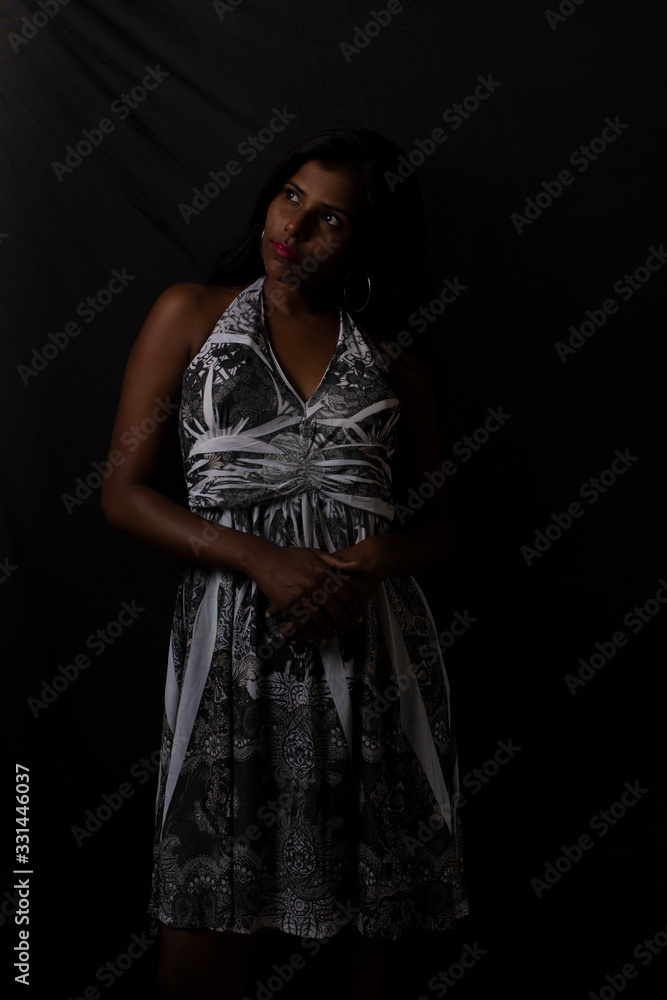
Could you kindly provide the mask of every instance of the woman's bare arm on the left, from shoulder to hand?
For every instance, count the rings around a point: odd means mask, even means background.
[[[176,417],[191,345],[205,340],[213,322],[205,289],[194,284],[173,285],[151,309],[127,362],[109,451],[112,471],[102,485],[102,510],[116,528],[163,552],[247,574],[296,625],[303,620],[303,599],[328,582],[330,567],[355,565],[353,557],[282,547],[217,524],[153,485],[166,428]],[[342,629],[349,618],[359,617],[362,607],[343,585],[312,614],[315,631],[330,637],[332,621]]]

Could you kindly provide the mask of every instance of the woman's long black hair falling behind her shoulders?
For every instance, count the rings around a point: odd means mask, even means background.
[[[357,182],[362,210],[348,294],[353,304],[364,301],[367,274],[370,300],[354,313],[355,322],[376,343],[391,343],[400,331],[410,331],[409,316],[435,297],[435,284],[417,174],[400,146],[372,129],[322,128],[289,150],[262,187],[245,232],[218,256],[207,283],[234,287],[257,280],[264,270],[260,237],[269,204],[308,160],[325,169],[345,165]],[[424,337],[413,339],[410,350],[423,353]]]

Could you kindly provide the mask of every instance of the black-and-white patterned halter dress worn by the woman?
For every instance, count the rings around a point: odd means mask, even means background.
[[[390,531],[400,402],[382,356],[341,308],[334,355],[304,402],[271,348],[263,284],[237,296],[183,376],[191,510],[328,551]],[[389,939],[451,928],[468,912],[458,765],[421,589],[386,579],[363,623],[304,649],[281,639],[287,616],[266,619],[268,604],[242,573],[184,567],[154,922],[314,938],[350,922]]]

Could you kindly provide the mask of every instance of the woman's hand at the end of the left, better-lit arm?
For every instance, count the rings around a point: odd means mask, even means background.
[[[321,549],[280,546],[262,548],[250,575],[272,602],[267,617],[281,611],[290,622],[281,635],[292,641],[313,639],[328,642],[352,622],[362,620],[362,606],[347,586],[358,563]]]

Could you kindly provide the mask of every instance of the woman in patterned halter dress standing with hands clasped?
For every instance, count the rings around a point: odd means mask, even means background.
[[[240,997],[264,928],[346,941],[341,995],[373,997],[383,938],[467,913],[449,690],[410,575],[447,552],[441,490],[394,518],[392,489],[442,464],[428,368],[387,348],[427,301],[400,155],[366,129],[296,146],[128,361],[103,510],[186,562],[150,906],[164,997]],[[151,485],[165,424],[126,433],[175,401],[189,510]]]

